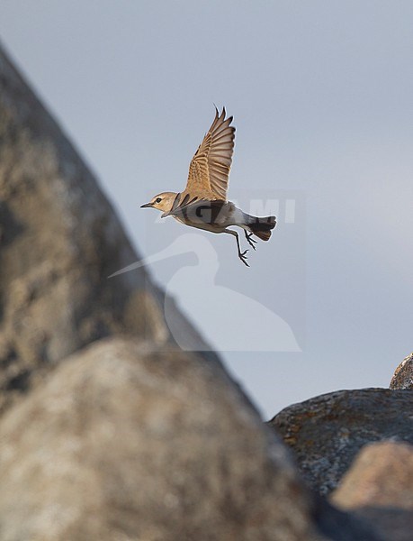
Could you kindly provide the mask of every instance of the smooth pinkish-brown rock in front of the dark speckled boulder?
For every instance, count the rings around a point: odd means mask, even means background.
[[[400,442],[365,445],[330,500],[370,520],[389,541],[409,541],[413,532],[413,446]]]

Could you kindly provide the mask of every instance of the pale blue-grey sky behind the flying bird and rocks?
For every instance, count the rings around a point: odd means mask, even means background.
[[[412,27],[399,0],[0,4],[6,50],[265,418],[387,387],[413,350]],[[278,216],[250,268],[229,235],[139,208],[184,188],[214,104],[229,199]]]

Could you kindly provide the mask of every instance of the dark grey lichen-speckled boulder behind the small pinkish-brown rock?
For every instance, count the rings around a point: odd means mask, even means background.
[[[413,444],[413,395],[341,390],[285,408],[270,425],[294,451],[310,486],[327,495],[365,444],[390,438]]]

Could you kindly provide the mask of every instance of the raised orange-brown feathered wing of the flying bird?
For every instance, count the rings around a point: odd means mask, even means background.
[[[232,116],[225,118],[216,113],[214,121],[189,166],[188,182],[184,193],[202,194],[211,199],[227,199],[229,169],[234,151],[235,128],[229,124]]]

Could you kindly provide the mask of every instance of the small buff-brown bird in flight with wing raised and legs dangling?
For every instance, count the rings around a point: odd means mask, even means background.
[[[244,230],[247,243],[256,250],[256,239],[268,241],[276,225],[274,215],[258,217],[248,215],[227,199],[229,170],[235,142],[233,117],[226,118],[225,107],[221,114],[215,107],[215,117],[205,134],[189,166],[188,179],[183,192],[162,192],[141,208],[156,208],[162,218],[173,216],[184,225],[210,231],[231,234],[237,241],[238,258],[249,267],[247,252],[241,251],[237,231]]]

